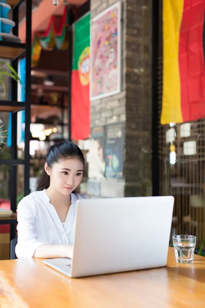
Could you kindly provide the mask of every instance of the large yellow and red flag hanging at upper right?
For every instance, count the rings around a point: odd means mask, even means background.
[[[204,0],[163,0],[161,124],[205,115]]]

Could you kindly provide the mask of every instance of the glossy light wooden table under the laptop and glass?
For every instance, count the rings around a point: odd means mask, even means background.
[[[30,259],[0,261],[0,273],[1,308],[205,306],[205,258],[178,264],[173,248],[166,267],[146,271],[72,279]]]

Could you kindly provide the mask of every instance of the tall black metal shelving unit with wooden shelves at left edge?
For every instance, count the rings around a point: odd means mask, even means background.
[[[13,21],[15,27],[13,34],[18,36],[18,9],[25,0],[7,0],[7,4],[12,6]],[[0,57],[10,59],[12,67],[17,71],[18,59],[23,55],[26,56],[26,87],[25,102],[17,101],[17,83],[11,80],[11,101],[0,101],[0,112],[12,112],[12,134],[11,134],[11,159],[1,160],[0,164],[11,166],[10,169],[10,202],[12,217],[0,218],[0,224],[10,224],[10,239],[16,237],[16,199],[17,199],[17,165],[24,165],[24,195],[30,192],[30,118],[31,118],[31,17],[32,17],[32,1],[26,0],[26,44],[15,42],[0,42]],[[25,110],[25,151],[24,160],[17,159],[17,112]],[[1,166],[0,166],[1,168]]]

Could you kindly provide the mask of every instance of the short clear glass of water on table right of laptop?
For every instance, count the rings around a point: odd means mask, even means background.
[[[194,235],[175,235],[172,239],[176,262],[193,263],[196,237]]]

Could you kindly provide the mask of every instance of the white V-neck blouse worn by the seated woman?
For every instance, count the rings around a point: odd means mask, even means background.
[[[71,206],[65,223],[61,223],[45,189],[23,198],[17,208],[17,258],[32,258],[41,244],[73,245],[76,201],[88,198],[85,194],[71,194]]]

